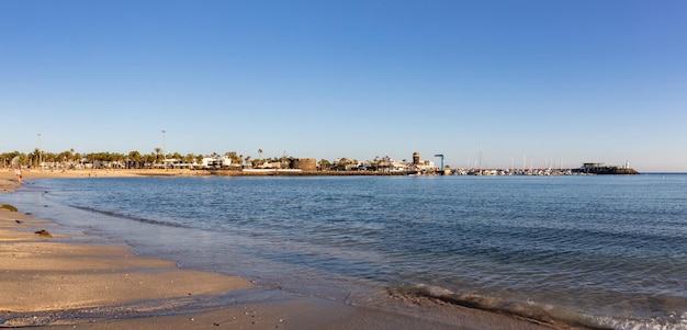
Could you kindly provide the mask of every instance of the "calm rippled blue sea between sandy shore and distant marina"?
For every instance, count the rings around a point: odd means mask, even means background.
[[[9,198],[184,268],[350,304],[392,292],[687,329],[687,174],[49,179]]]

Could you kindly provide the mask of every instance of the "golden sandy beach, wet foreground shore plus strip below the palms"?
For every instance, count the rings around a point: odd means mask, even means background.
[[[23,180],[189,172],[30,172]],[[1,192],[20,185],[0,172]],[[42,236],[36,231],[50,234]],[[57,224],[0,209],[0,327],[52,329],[552,329],[429,299],[351,306],[260,287],[250,278],[180,269],[133,248],[94,244]],[[83,243],[88,241],[89,243]]]

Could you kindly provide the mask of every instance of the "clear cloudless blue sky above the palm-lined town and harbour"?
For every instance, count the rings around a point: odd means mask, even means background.
[[[0,0],[0,152],[687,172],[685,18],[684,0]]]

